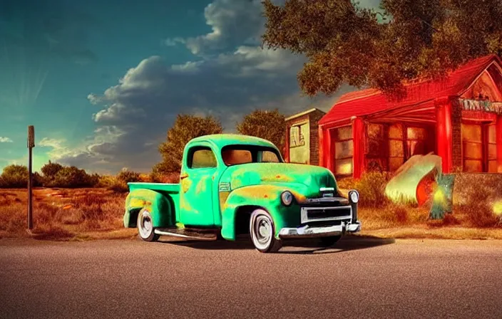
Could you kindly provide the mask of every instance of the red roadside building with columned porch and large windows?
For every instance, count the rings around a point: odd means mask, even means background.
[[[343,95],[319,121],[319,164],[337,177],[392,172],[433,152],[443,172],[502,172],[502,63],[486,56],[439,81]]]

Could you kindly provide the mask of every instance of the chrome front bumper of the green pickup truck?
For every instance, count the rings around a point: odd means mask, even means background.
[[[334,226],[302,226],[297,228],[283,228],[279,231],[280,239],[292,238],[314,238],[341,236],[346,233],[357,233],[361,230],[361,222],[355,223],[342,221],[339,225]]]

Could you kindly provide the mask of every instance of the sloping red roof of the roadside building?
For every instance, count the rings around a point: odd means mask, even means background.
[[[342,95],[327,115],[322,117],[319,124],[347,120],[353,116],[362,117],[421,103],[434,103],[436,98],[462,95],[493,61],[501,64],[501,60],[496,55],[484,56],[457,68],[449,73],[444,80],[435,82],[428,80],[406,85],[406,98],[399,101],[388,100],[386,95],[375,89],[347,93]]]

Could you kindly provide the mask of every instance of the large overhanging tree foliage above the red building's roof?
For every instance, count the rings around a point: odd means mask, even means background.
[[[344,83],[401,93],[406,81],[502,56],[500,0],[381,0],[379,12],[350,0],[263,3],[263,42],[307,56],[298,80],[308,95]]]

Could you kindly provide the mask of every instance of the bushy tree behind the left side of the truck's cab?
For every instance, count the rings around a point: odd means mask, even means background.
[[[188,141],[195,137],[222,132],[221,123],[215,117],[178,115],[173,127],[168,130],[166,141],[158,148],[163,161],[153,167],[153,175],[180,172],[183,149]]]

